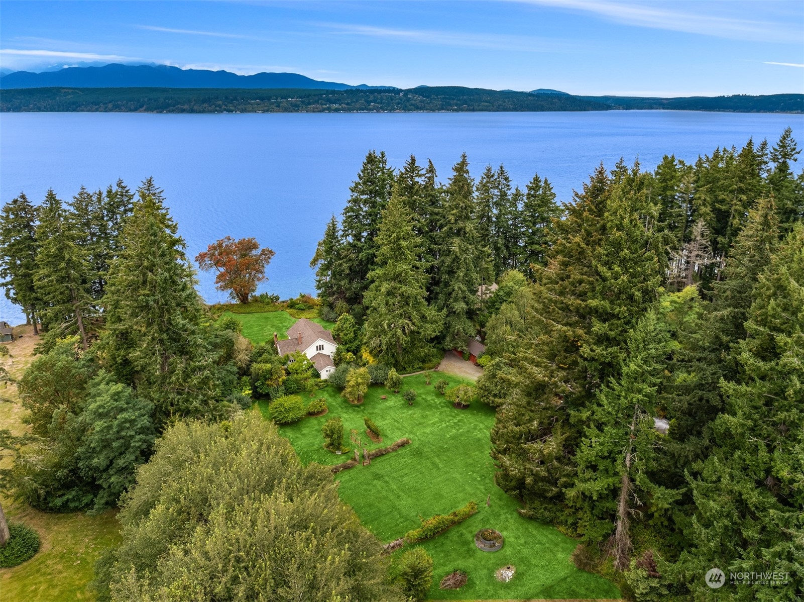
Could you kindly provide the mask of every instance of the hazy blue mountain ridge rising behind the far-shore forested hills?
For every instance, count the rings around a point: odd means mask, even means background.
[[[217,88],[217,89],[388,89],[393,86],[353,86],[312,80],[297,73],[256,73],[240,76],[228,71],[180,69],[168,65],[108,64],[68,67],[59,71],[17,71],[0,77],[0,89],[51,88]]]

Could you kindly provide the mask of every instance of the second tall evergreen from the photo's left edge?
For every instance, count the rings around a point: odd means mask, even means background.
[[[86,247],[67,209],[52,190],[47,191],[36,229],[36,291],[42,302],[43,324],[61,336],[77,334],[89,347],[95,311],[89,284],[92,270]]]

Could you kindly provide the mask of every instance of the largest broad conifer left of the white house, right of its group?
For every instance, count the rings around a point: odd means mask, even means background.
[[[109,270],[102,356],[138,397],[154,403],[161,424],[207,410],[218,385],[184,241],[153,182],[138,194]]]

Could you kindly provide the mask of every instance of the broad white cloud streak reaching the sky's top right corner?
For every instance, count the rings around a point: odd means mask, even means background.
[[[505,0],[539,6],[552,6],[563,10],[576,10],[597,14],[616,23],[626,23],[640,27],[684,31],[687,33],[713,35],[721,38],[761,40],[765,42],[800,42],[798,27],[786,27],[783,23],[772,23],[758,19],[735,19],[720,14],[706,14],[676,10],[680,2],[664,8],[656,2],[611,2],[610,0]],[[702,6],[697,2],[684,3],[686,6]]]

